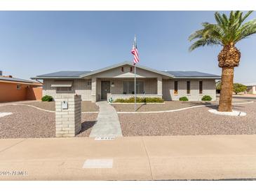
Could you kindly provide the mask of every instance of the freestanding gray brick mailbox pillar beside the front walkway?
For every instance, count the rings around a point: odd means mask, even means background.
[[[67,109],[63,102],[67,102]],[[81,95],[55,96],[55,135],[74,137],[81,130]]]

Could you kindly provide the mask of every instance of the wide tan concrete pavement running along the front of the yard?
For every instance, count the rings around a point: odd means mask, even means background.
[[[252,179],[255,149],[256,135],[0,139],[0,170],[25,174],[0,179]],[[95,159],[108,168],[83,168]]]

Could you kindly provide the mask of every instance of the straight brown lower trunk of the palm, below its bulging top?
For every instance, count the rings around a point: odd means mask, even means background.
[[[222,67],[222,89],[218,111],[232,111],[234,67]]]

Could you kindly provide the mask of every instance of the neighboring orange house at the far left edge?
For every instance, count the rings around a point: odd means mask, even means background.
[[[42,83],[12,76],[2,76],[0,71],[0,102],[41,100]]]

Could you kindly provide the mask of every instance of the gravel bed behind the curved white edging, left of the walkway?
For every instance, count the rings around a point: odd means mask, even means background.
[[[41,109],[46,109],[49,111],[55,111],[55,102],[30,102],[26,103],[29,105],[32,105],[34,107],[39,107]],[[99,107],[93,102],[87,102],[87,101],[82,101],[81,102],[81,111],[82,112],[94,112],[94,111],[99,111]]]

